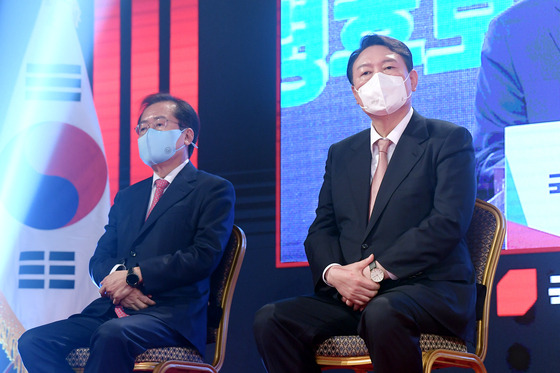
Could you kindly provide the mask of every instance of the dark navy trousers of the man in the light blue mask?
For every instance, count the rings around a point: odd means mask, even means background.
[[[159,319],[143,314],[116,318],[74,315],[23,333],[18,349],[29,373],[73,373],[66,356],[89,347],[85,372],[132,372],[136,356],[148,348],[188,345]]]

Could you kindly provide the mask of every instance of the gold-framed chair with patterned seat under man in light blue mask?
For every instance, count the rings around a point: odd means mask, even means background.
[[[202,356],[192,348],[153,348],[136,358],[135,372],[217,373],[221,369],[226,351],[231,302],[246,247],[245,233],[241,228],[234,225],[222,260],[212,274],[208,302],[207,343],[215,344],[213,362],[211,364],[205,363]],[[70,352],[66,360],[76,372],[83,372],[88,358],[89,349],[79,348]]]

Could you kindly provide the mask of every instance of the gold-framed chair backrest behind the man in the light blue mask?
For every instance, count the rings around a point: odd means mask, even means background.
[[[212,365],[219,371],[224,362],[226,339],[235,284],[241,270],[247,240],[241,228],[234,225],[220,264],[210,280],[207,343],[215,343]]]

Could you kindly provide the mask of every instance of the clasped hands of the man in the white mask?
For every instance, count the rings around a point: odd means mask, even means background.
[[[345,266],[332,266],[325,274],[327,282],[342,295],[343,302],[356,311],[363,310],[380,287],[369,275],[371,262],[373,255]]]

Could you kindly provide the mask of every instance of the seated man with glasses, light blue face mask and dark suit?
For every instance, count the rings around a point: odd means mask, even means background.
[[[21,336],[30,373],[73,372],[66,356],[79,347],[90,349],[85,372],[132,372],[154,347],[204,355],[210,275],[231,234],[235,193],[189,162],[199,121],[187,102],[158,93],[142,109],[135,131],[153,176],[115,197],[90,260],[100,298]]]

